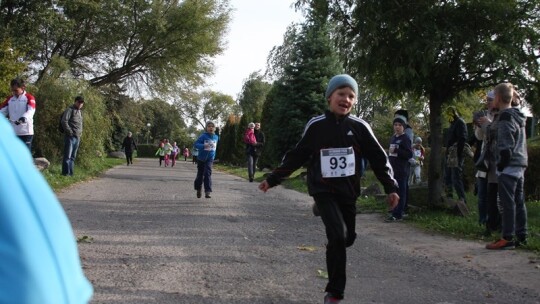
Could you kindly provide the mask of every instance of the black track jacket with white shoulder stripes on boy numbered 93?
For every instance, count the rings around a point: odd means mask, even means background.
[[[355,175],[323,178],[320,150],[353,147]],[[304,129],[302,138],[285,154],[281,165],[266,178],[271,187],[309,161],[307,170],[308,190],[311,196],[335,193],[356,199],[360,195],[361,161],[367,159],[385,193],[397,192],[398,186],[385,150],[363,119],[347,115],[337,118],[332,112],[312,118]]]

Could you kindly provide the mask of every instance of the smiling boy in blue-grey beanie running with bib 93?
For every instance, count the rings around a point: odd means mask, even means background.
[[[309,161],[308,191],[313,196],[326,228],[328,284],[325,303],[343,299],[346,281],[346,248],[356,239],[356,199],[360,195],[362,158],[369,161],[375,176],[394,208],[398,186],[386,152],[364,120],[349,115],[357,101],[358,85],[349,75],[336,75],[328,83],[325,97],[329,111],[312,118],[302,138],[288,151],[281,165],[260,183],[266,192]]]

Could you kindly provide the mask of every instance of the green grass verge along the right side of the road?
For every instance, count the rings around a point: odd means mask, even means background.
[[[232,167],[224,164],[216,164],[216,169],[247,179],[247,168]],[[306,182],[299,178],[298,170],[291,177],[283,181],[282,185],[289,189],[307,193]],[[264,179],[262,172],[255,175],[256,181]],[[362,185],[368,186],[376,181],[373,172],[367,171]],[[498,235],[485,236],[483,226],[478,225],[477,198],[472,193],[467,193],[467,202],[470,214],[465,217],[456,216],[448,210],[443,209],[419,209],[411,210],[406,222],[425,231],[437,232],[439,234],[452,236],[459,239],[479,240],[486,243],[495,240]],[[528,212],[529,238],[528,245],[524,250],[529,250],[540,255],[540,201],[526,202]],[[376,212],[385,213],[387,205],[381,199],[374,197],[360,197],[357,200],[358,210],[362,213]]]

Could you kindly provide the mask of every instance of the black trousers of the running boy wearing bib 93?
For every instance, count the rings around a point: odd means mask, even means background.
[[[326,228],[326,292],[343,298],[345,292],[347,247],[356,239],[355,199],[335,194],[317,194],[313,197]]]

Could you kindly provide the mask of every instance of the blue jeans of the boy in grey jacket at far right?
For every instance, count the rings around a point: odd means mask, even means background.
[[[527,208],[523,196],[523,175],[516,177],[501,174],[498,177],[499,199],[502,207],[502,236],[512,240],[514,236],[527,235]]]

